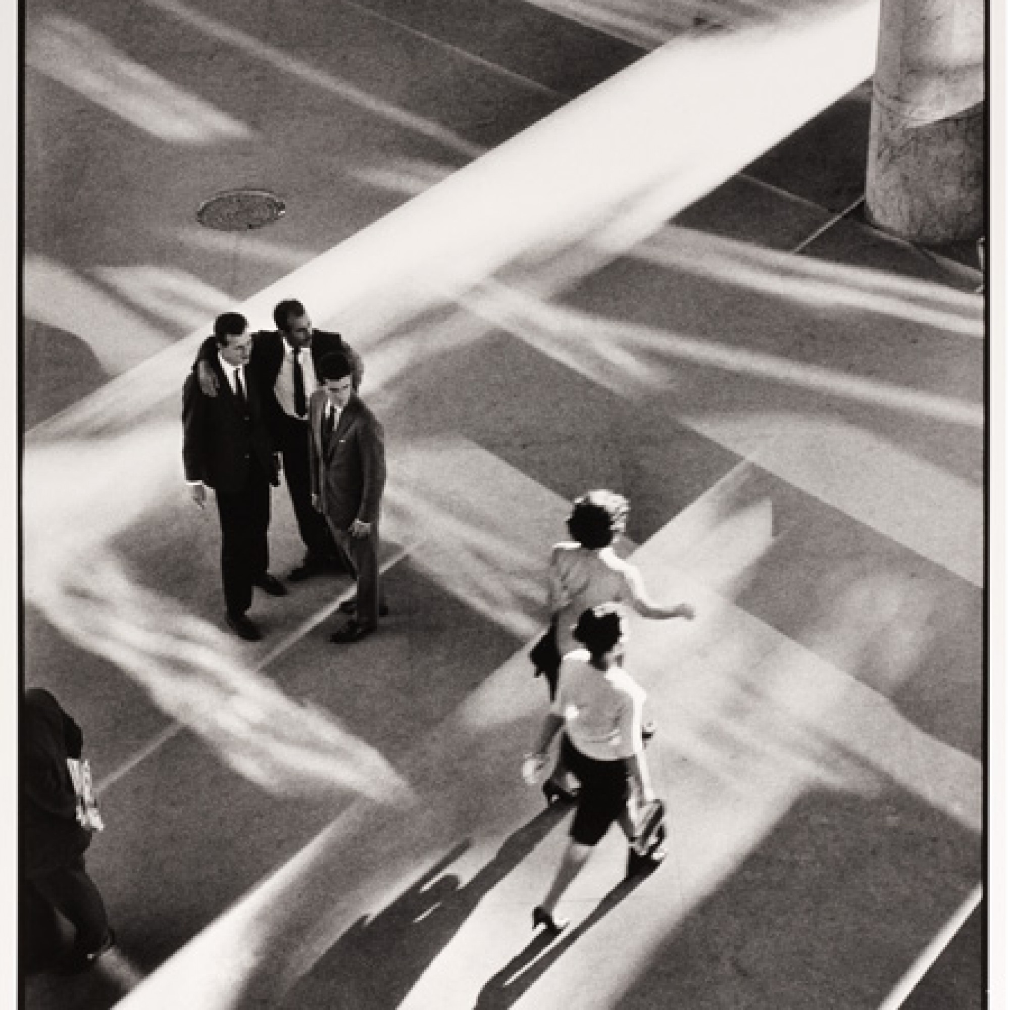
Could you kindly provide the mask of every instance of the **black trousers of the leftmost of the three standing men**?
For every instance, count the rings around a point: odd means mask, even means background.
[[[256,461],[240,491],[215,491],[221,519],[221,582],[224,605],[240,617],[252,603],[252,583],[270,566],[270,481]]]

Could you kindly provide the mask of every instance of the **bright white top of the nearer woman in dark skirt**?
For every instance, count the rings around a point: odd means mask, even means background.
[[[621,667],[598,670],[580,648],[562,661],[550,711],[587,758],[615,761],[640,752],[644,704],[644,690]]]

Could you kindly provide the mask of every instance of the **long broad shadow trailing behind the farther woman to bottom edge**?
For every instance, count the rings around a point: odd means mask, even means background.
[[[328,1008],[339,993],[341,1006],[394,1010],[482,899],[558,825],[559,816],[541,811],[467,884],[445,873],[470,848],[469,840],[461,841],[386,909],[356,922],[288,993],[283,1006]]]

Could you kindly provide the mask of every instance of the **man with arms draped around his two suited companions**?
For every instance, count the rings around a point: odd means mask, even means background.
[[[333,352],[344,355],[351,366],[351,383],[362,384],[365,366],[361,356],[339,333],[314,329],[305,306],[289,299],[274,309],[277,330],[252,334],[249,370],[264,403],[267,423],[284,462],[284,477],[305,543],[305,559],[289,576],[301,582],[333,567],[340,556],[323,517],[312,508],[308,454],[308,401],[319,386],[319,363]],[[206,396],[217,392],[209,368],[216,355],[205,342],[198,357],[200,387]]]

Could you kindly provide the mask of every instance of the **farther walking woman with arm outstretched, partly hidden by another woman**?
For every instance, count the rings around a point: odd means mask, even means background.
[[[687,603],[654,603],[638,569],[617,557],[613,542],[627,528],[627,499],[613,491],[590,491],[575,500],[568,520],[573,540],[556,544],[550,552],[547,604],[559,658],[578,647],[573,628],[579,615],[601,603],[624,604],[643,617],[694,617]],[[541,672],[553,699],[558,672]],[[564,756],[543,784],[543,793],[548,803],[575,798],[566,783]]]

